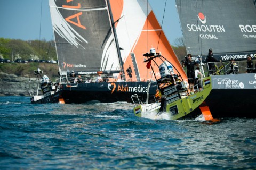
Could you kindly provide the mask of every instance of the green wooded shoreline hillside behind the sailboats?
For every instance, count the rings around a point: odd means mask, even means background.
[[[183,44],[183,39],[177,38],[174,41],[175,46],[172,46],[179,61],[187,55],[186,48]],[[0,58],[14,61],[17,58],[28,60],[30,58],[39,60],[57,60],[54,41],[46,40],[20,40],[20,39],[5,39],[0,38]],[[0,72],[16,74],[18,76],[29,75],[34,77],[33,71],[40,67],[45,74],[51,78],[58,78],[58,64],[48,63],[0,63]]]

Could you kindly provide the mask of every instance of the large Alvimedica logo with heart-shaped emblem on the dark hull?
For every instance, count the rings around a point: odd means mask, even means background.
[[[113,88],[111,89],[111,86],[113,86]],[[115,83],[111,83],[108,84],[108,89],[111,90],[111,94],[115,91],[117,87],[117,92],[148,92],[148,87],[142,87],[141,85],[139,85],[138,87],[129,87],[129,86],[123,86],[118,84],[118,86],[116,86]]]

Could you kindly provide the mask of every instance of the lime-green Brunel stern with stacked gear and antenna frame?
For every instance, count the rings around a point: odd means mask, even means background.
[[[148,68],[153,68],[156,65],[160,71],[161,78],[157,79],[160,97],[155,103],[148,103],[147,101],[145,103],[138,98],[137,94],[133,95],[134,114],[138,117],[147,117],[150,114],[154,115],[155,118],[161,118],[161,114],[164,113],[167,114],[169,120],[196,118],[202,113],[205,117],[204,109],[200,106],[212,90],[211,77],[202,79],[201,90],[190,93],[187,81],[181,77],[176,68],[164,56],[154,53],[154,51],[155,49],[151,48],[150,53],[145,53],[144,56],[147,57],[145,62],[148,62]],[[161,60],[162,64],[156,64],[157,60]],[[209,115],[211,116],[211,114]],[[212,121],[213,117],[205,118],[205,120]]]

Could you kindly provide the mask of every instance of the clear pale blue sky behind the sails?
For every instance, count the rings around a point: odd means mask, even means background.
[[[97,0],[95,0],[97,1]],[[182,37],[175,0],[149,0],[171,45]],[[42,18],[41,18],[42,7]],[[0,37],[22,40],[54,39],[48,0],[0,0]]]

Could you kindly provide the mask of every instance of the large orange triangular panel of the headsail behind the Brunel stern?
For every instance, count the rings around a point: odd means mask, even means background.
[[[143,57],[142,54],[149,52],[149,49],[151,47],[154,47],[156,50],[158,49],[157,52],[161,52],[161,54],[172,63],[172,65],[180,72],[181,77],[186,80],[187,79],[186,73],[182,69],[182,66],[178,58],[175,56],[173,49],[169,44],[169,41],[167,40],[164,32],[162,31],[160,35],[160,31],[161,31],[160,28],[161,27],[153,11],[151,11],[148,15],[147,20],[145,21],[144,28],[141,31],[137,44],[135,45],[134,50],[132,51],[132,53],[136,55],[140,78],[142,81],[151,79],[150,71],[146,69],[146,63],[143,63],[143,61],[145,60],[145,57]],[[160,40],[159,40],[159,36],[160,36]],[[159,45],[158,45],[158,40],[159,40]],[[127,68],[131,63],[132,63],[131,57],[127,57],[127,60],[124,63],[124,68]],[[161,63],[162,61],[157,62],[158,65],[160,65]],[[159,70],[154,70],[154,71],[156,73],[157,79],[159,79],[160,78]],[[135,74],[133,75],[133,77],[135,77]]]

